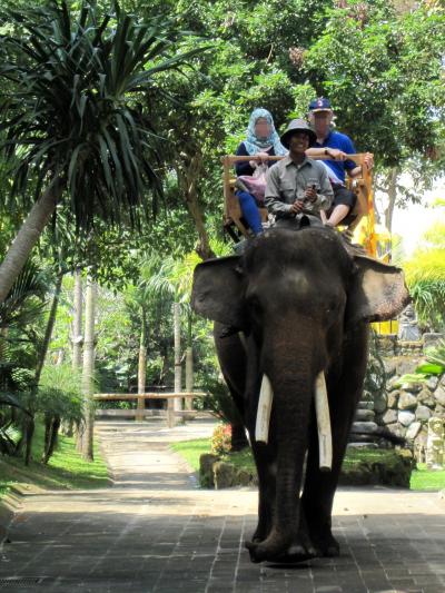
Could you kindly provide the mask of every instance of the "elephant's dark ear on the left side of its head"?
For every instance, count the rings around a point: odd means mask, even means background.
[[[239,256],[209,259],[195,268],[191,307],[202,317],[241,329],[244,290]]]

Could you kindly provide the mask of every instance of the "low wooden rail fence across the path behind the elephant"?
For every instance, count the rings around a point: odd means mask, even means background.
[[[175,418],[182,417],[185,419],[192,419],[197,413],[194,409],[175,409],[175,399],[192,401],[195,397],[204,397],[205,392],[166,392],[166,393],[98,393],[92,397],[96,402],[130,402],[136,399],[137,407],[132,409],[110,409],[97,408],[96,417],[113,416],[118,418],[135,417],[135,421],[144,421],[145,417],[161,417],[167,419],[167,425],[171,428],[175,426]],[[146,409],[146,399],[166,399],[167,409]]]

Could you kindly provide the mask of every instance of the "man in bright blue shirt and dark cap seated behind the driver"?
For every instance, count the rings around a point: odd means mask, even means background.
[[[336,227],[354,208],[357,196],[345,186],[346,172],[349,177],[360,175],[362,167],[357,167],[347,155],[356,152],[352,139],[346,134],[330,129],[334,111],[329,99],[319,97],[309,103],[309,121],[313,126],[316,140],[307,150],[309,157],[328,156],[333,160],[324,160],[329,180],[334,189],[332,211],[328,213],[327,225]],[[370,169],[374,165],[373,155],[366,154],[365,165]]]

